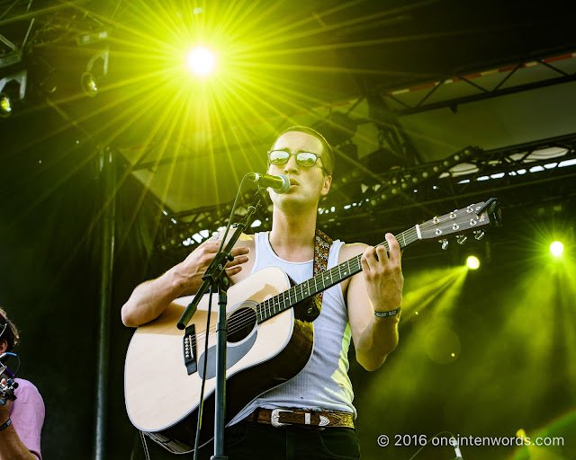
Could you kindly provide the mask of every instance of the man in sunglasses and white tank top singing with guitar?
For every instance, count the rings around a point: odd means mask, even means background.
[[[301,283],[311,279],[318,257],[318,206],[332,182],[332,148],[316,130],[292,127],[276,138],[267,155],[267,173],[286,175],[291,186],[282,194],[270,190],[272,230],[238,240],[226,269],[231,284],[269,266],[280,267]],[[357,361],[372,371],[398,343],[400,245],[392,234],[386,234],[389,253],[383,246],[332,242],[319,235],[330,244],[328,269],[362,254],[363,271],[323,293],[321,313],[313,323],[314,349],[302,372],[258,396],[230,421],[225,454],[231,460],[360,457],[347,352],[352,339]],[[135,288],[122,307],[122,322],[130,327],[148,323],[176,297],[195,293],[219,246],[202,243],[161,277]],[[291,411],[291,422],[273,426],[275,410]]]

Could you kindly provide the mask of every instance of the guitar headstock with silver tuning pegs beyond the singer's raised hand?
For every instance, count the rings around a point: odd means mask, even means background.
[[[430,241],[446,240],[451,235],[462,235],[459,242],[464,242],[464,234],[475,233],[482,238],[484,229],[500,225],[501,209],[496,199],[480,201],[466,208],[455,209],[444,216],[434,217],[418,226],[419,239]],[[447,243],[447,240],[446,240]]]

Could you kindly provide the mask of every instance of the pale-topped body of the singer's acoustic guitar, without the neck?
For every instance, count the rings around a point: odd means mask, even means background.
[[[293,308],[256,322],[256,305],[290,288],[283,270],[260,270],[229,288],[227,320],[226,423],[266,390],[296,376],[311,357],[312,323]],[[195,332],[198,370],[184,364],[184,333],[176,323],[192,296],[175,299],[165,312],[134,333],[126,355],[124,394],[132,424],[174,453],[193,450],[200,404],[208,296],[204,296],[186,331]],[[215,325],[218,296],[212,296],[211,333],[202,410],[201,446],[213,437]]]

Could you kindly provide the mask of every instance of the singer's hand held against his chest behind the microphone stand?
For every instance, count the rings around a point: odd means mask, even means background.
[[[221,240],[206,241],[198,246],[193,252],[188,254],[188,257],[181,263],[175,266],[175,274],[180,278],[183,283],[183,295],[195,294],[202,286],[202,275],[208,269],[211,261],[216,256],[220,249]],[[247,253],[250,250],[244,247],[237,247],[232,249],[233,261],[226,264],[226,274],[231,277],[236,275],[242,270],[242,264],[248,261]]]

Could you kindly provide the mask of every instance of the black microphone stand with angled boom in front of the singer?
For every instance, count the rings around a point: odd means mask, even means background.
[[[218,323],[216,325],[216,396],[214,407],[214,455],[211,460],[226,460],[228,457],[224,456],[224,428],[226,426],[226,339],[228,332],[228,325],[226,323],[226,305],[228,303],[228,288],[229,279],[224,270],[226,261],[233,261],[234,257],[231,254],[234,244],[238,241],[240,234],[242,234],[252,220],[252,216],[261,206],[262,200],[266,196],[266,191],[258,189],[252,204],[247,208],[246,215],[239,222],[234,234],[229,239],[226,247],[217,252],[214,260],[211,261],[210,266],[202,275],[202,286],[193,298],[193,301],[186,306],[184,313],[180,316],[176,326],[180,330],[184,330],[186,325],[190,322],[192,315],[196,311],[202,296],[206,293],[208,288],[212,292],[218,290]],[[208,350],[204,350],[205,353]],[[202,401],[200,402],[202,404]],[[197,427],[200,429],[200,425]]]

